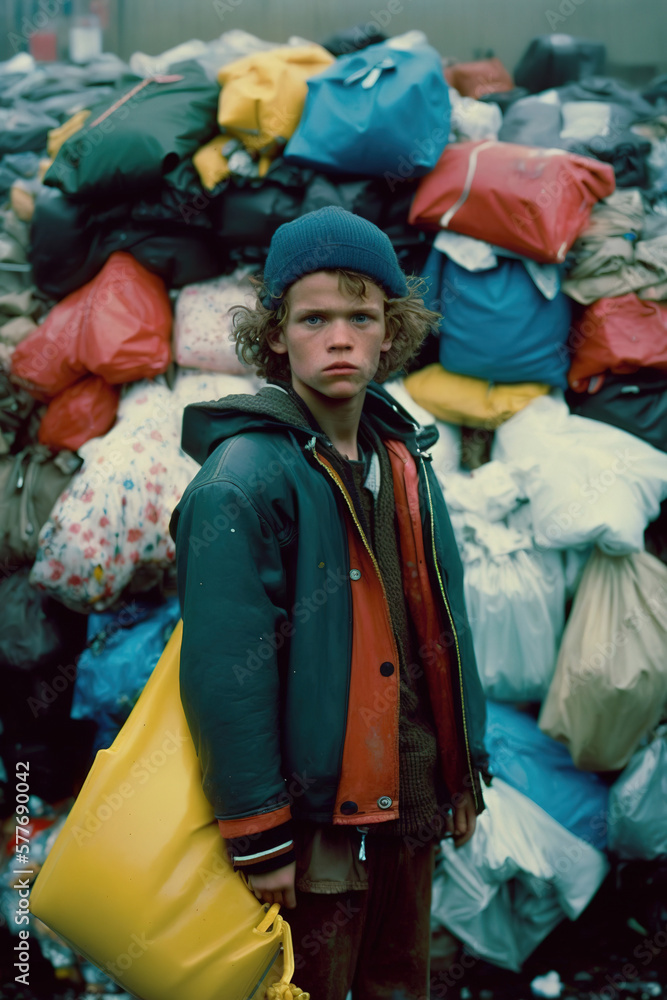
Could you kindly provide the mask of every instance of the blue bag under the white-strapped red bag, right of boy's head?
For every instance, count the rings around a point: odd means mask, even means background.
[[[467,271],[432,250],[423,276],[431,283],[431,307],[443,314],[440,362],[447,371],[567,388],[566,295],[545,298],[520,260],[499,259],[490,270]]]

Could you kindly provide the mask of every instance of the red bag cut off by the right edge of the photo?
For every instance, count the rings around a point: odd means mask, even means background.
[[[640,368],[667,371],[667,302],[636,295],[598,299],[584,310],[570,337],[570,386],[585,392],[592,376],[631,375]]]

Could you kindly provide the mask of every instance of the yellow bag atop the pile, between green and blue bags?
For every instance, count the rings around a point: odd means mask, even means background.
[[[285,46],[230,63],[218,73],[220,128],[255,153],[276,155],[299,124],[306,81],[334,62],[321,45]]]

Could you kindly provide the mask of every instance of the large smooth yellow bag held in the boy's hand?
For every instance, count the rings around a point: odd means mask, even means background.
[[[202,791],[179,695],[181,635],[179,623],[97,754],[31,910],[140,1000],[307,1000],[289,985],[289,926],[233,871]]]

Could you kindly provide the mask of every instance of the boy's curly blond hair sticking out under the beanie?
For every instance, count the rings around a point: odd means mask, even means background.
[[[323,268],[330,274],[338,275],[338,288],[350,298],[366,296],[366,282],[377,285],[372,278],[356,271],[343,268]],[[279,330],[283,329],[289,317],[289,302],[285,291],[277,309],[267,309],[261,299],[266,288],[261,278],[251,278],[257,290],[254,308],[234,306],[232,333],[230,339],[236,342],[236,353],[247,365],[257,371],[260,378],[290,380],[290,365],[287,354],[276,354],[271,348]],[[436,330],[440,313],[427,309],[423,296],[427,291],[426,282],[415,275],[407,278],[408,294],[398,299],[385,296],[384,319],[387,333],[393,334],[391,347],[380,357],[375,375],[376,382],[386,382],[401,371],[413,358],[426,335]]]

